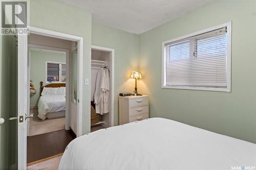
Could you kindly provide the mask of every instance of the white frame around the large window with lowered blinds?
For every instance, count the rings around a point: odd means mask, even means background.
[[[226,22],[221,25],[211,27],[205,30],[201,30],[195,33],[187,34],[178,38],[170,39],[167,41],[162,42],[162,88],[169,88],[169,89],[188,89],[188,90],[206,90],[206,91],[224,91],[224,92],[231,92],[231,25],[232,22]],[[191,87],[191,86],[166,86],[165,85],[165,62],[164,62],[164,45],[167,43],[180,41],[185,38],[193,37],[196,35],[204,34],[210,31],[218,30],[221,28],[227,27],[227,62],[226,62],[226,75],[227,75],[227,87],[226,88],[215,88],[215,87]]]

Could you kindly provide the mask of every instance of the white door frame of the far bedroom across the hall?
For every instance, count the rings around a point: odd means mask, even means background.
[[[68,74],[66,74],[66,112],[65,112],[65,129],[69,130],[69,105],[70,105],[70,95],[69,95],[69,80],[70,80],[70,76],[69,76],[69,71],[70,71],[70,50],[66,49],[66,48],[59,48],[59,47],[52,47],[52,46],[46,46],[46,45],[37,45],[37,44],[32,44],[32,43],[28,43],[28,84],[30,83],[30,59],[31,59],[31,55],[30,55],[30,50],[31,49],[40,49],[40,50],[47,50],[47,51],[56,51],[56,52],[65,52],[66,53],[66,72],[68,72]],[[44,80],[42,80],[44,81]],[[67,83],[68,82],[68,83]],[[48,84],[44,81],[45,84]],[[58,82],[59,83],[59,82]],[[39,84],[38,84],[39,86]],[[30,91],[29,86],[28,86],[28,91]],[[28,93],[28,115],[30,115],[30,94]],[[29,135],[29,122],[30,119],[28,119],[27,122],[27,136]]]

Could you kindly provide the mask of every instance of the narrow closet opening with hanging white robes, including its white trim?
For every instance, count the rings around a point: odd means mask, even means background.
[[[114,49],[92,46],[91,132],[114,126]]]

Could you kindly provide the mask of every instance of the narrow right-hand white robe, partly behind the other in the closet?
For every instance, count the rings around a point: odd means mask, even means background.
[[[109,113],[109,96],[110,96],[110,72],[105,70],[106,89],[103,91],[103,113]]]

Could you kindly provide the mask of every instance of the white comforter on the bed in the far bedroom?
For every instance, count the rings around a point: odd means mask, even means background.
[[[38,101],[38,117],[46,119],[46,114],[66,110],[65,94],[41,95]]]

